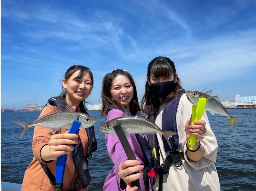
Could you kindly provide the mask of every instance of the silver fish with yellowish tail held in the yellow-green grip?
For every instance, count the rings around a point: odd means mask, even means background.
[[[196,105],[196,103],[197,103],[197,101],[200,97],[206,98],[207,101],[206,101],[205,110],[212,113],[212,115],[214,113],[217,113],[217,114],[220,114],[220,115],[227,116],[228,119],[229,119],[229,123],[231,125],[232,130],[233,130],[233,127],[234,127],[234,122],[243,123],[239,119],[237,119],[235,117],[232,117],[228,114],[227,110],[222,105],[219,96],[211,96],[211,94],[212,94],[212,90],[209,90],[209,91],[204,92],[204,93],[203,92],[197,92],[197,91],[186,91],[186,96],[187,96],[189,102],[194,104],[194,105]]]

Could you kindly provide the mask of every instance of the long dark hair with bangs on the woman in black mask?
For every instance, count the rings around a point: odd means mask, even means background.
[[[148,64],[147,77],[150,80],[150,74],[155,77],[173,75],[175,77],[176,69],[172,60],[168,57],[155,57]],[[163,100],[164,103],[170,102],[175,96],[178,95],[178,90],[183,89],[180,85],[180,79],[177,78],[174,90]],[[145,94],[143,95],[141,108],[142,111],[148,115],[155,113],[160,105],[158,97],[154,96],[151,91],[148,81],[145,84]]]

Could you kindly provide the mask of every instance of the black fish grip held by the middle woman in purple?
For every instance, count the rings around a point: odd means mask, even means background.
[[[124,148],[124,151],[125,151],[126,156],[128,157],[128,160],[137,160],[132,151],[131,145],[129,144],[129,142],[124,134],[122,126],[120,124],[118,124],[118,125],[114,126],[114,130],[116,131],[116,135],[119,138],[119,140]],[[138,173],[138,172],[135,172],[134,174],[136,174],[136,173]],[[140,180],[139,179],[133,181],[132,184],[133,184],[133,186],[138,187],[138,191],[140,190]]]

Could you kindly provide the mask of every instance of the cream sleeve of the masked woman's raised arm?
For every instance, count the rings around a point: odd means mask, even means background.
[[[215,135],[212,132],[209,120],[207,118],[206,112],[204,112],[201,120],[206,122],[206,135],[201,142],[201,145],[204,147],[204,156],[199,161],[191,161],[187,157],[187,140],[185,125],[186,122],[190,119],[192,114],[192,104],[187,100],[186,95],[183,94],[180,98],[180,103],[177,111],[177,125],[178,129],[182,129],[182,136],[180,137],[180,146],[183,149],[184,157],[186,162],[194,169],[202,169],[208,167],[216,162],[218,144]],[[178,120],[179,118],[179,120]]]

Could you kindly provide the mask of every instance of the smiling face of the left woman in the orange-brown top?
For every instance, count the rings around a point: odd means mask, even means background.
[[[92,90],[92,79],[87,72],[83,77],[76,79],[80,70],[73,73],[68,80],[62,80],[62,86],[66,89],[66,101],[70,106],[78,106],[87,98]]]

